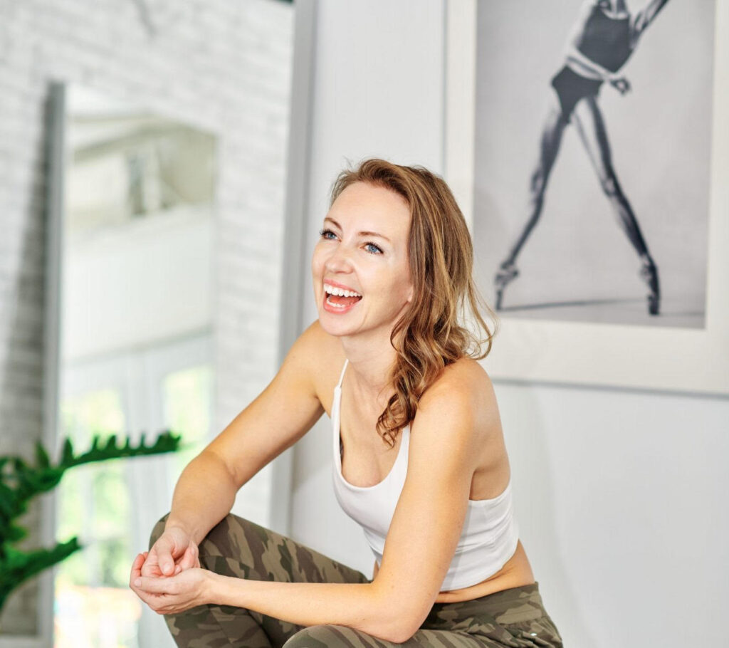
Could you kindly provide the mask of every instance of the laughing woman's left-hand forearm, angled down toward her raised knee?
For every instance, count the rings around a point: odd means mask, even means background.
[[[225,464],[203,451],[182,471],[166,527],[184,528],[196,544],[230,512],[237,488]]]

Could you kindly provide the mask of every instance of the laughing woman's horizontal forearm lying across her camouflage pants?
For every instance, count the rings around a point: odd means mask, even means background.
[[[252,609],[297,625],[332,623],[400,643],[408,623],[370,583],[248,580],[210,573],[211,603]]]

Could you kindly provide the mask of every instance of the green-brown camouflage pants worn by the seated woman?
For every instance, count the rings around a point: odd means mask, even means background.
[[[162,534],[165,515],[152,531]],[[362,572],[249,520],[227,515],[200,543],[200,564],[218,574],[278,582],[366,583]],[[254,610],[203,605],[165,615],[180,648],[561,648],[538,584],[471,601],[436,603],[416,633],[396,644],[345,625],[295,625]]]

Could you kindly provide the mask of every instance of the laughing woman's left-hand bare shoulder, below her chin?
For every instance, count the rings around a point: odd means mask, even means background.
[[[332,391],[346,360],[338,337],[327,333],[317,319],[297,338],[284,364],[289,359],[311,382],[321,405],[329,412]]]

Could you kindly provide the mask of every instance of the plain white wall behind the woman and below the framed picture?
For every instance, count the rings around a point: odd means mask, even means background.
[[[317,29],[311,246],[344,158],[443,171],[443,0],[320,0]],[[729,400],[507,382],[496,396],[521,537],[565,644],[727,645]],[[324,417],[295,447],[291,535],[371,576],[332,493],[330,434]]]

